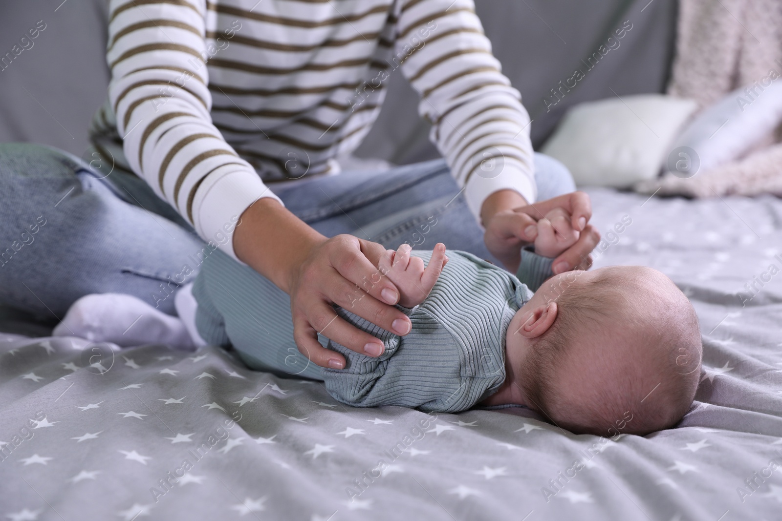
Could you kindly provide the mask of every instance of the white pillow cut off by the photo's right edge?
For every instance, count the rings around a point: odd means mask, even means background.
[[[701,171],[741,159],[782,121],[782,80],[768,83],[741,87],[705,109],[684,127],[671,148],[691,148]],[[665,170],[687,177],[674,171],[674,165]]]

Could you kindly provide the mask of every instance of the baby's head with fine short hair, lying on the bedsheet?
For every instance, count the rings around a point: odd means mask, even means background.
[[[654,271],[639,268],[642,270]],[[604,272],[590,280],[579,280],[582,273],[571,272],[554,287],[550,302],[557,302],[557,317],[549,330],[536,339],[522,368],[527,375],[522,378],[522,389],[528,405],[576,434],[614,437],[621,433],[648,434],[673,426],[690,409],[701,375],[700,329],[692,305],[676,289],[680,298],[666,300],[655,310],[655,316],[648,316],[647,310],[639,309],[637,302],[622,291],[622,287],[633,284],[632,277]],[[673,287],[673,282],[662,273],[655,273],[644,276],[658,277],[661,284]],[[668,327],[673,320],[683,321],[683,327]],[[639,403],[650,390],[641,389],[640,379],[633,378],[632,372],[615,371],[605,379],[608,381],[597,382],[601,386],[600,403],[568,403],[568,398],[558,392],[555,375],[573,346],[587,337],[610,340],[627,331],[637,332],[639,338],[628,348],[656,353],[651,356],[651,368],[640,367],[649,361],[649,355],[633,360],[638,362],[635,369],[651,369],[661,375],[655,399],[645,405]],[[594,359],[599,363],[601,357]],[[574,407],[579,410],[573,410]],[[628,415],[631,421],[627,420]]]

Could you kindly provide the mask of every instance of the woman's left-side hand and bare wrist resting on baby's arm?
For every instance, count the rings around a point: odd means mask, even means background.
[[[339,318],[339,305],[395,334],[410,332],[410,319],[393,307],[396,286],[378,266],[386,249],[352,235],[328,239],[271,198],[242,213],[234,251],[291,298],[293,337],[299,351],[321,367],[341,369],[345,357],[317,341],[321,333],[353,351],[378,356],[383,344]]]

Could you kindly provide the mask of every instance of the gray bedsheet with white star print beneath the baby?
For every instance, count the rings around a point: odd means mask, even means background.
[[[698,310],[677,428],[346,409],[218,348],[5,335],[0,519],[782,519],[782,202],[590,193],[600,230],[632,219],[597,265],[661,269]]]

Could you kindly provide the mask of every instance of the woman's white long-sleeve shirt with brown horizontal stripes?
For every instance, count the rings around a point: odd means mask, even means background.
[[[502,188],[536,195],[529,116],[472,0],[112,0],[107,60],[93,141],[121,143],[206,240],[276,197],[264,181],[339,169],[396,68],[472,212]]]

